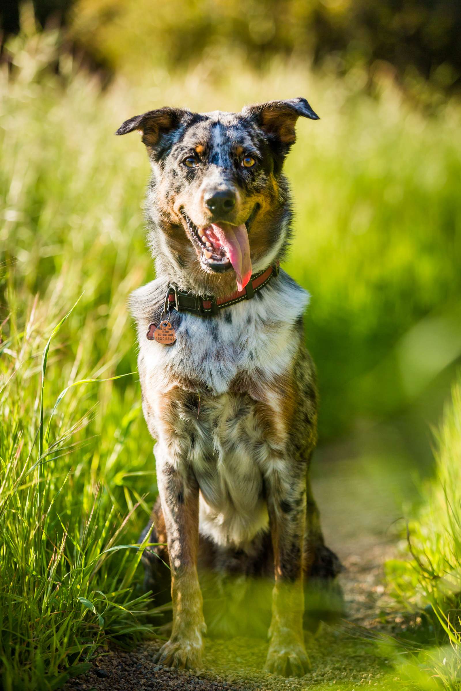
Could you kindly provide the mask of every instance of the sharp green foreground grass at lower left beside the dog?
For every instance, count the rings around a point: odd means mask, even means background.
[[[59,368],[53,341],[60,324],[40,362],[39,313],[37,300],[20,331],[11,313],[9,337],[0,345],[0,659],[6,690],[57,688],[84,670],[88,654],[107,638],[150,630],[143,623],[149,603],[133,589],[140,551],[123,540],[143,504],[136,491],[124,497],[119,457],[138,406],[120,417],[113,403],[105,406],[104,425],[113,427],[103,447],[101,410],[89,390],[72,399],[64,389],[50,410],[47,375]],[[97,386],[67,382],[81,390]]]

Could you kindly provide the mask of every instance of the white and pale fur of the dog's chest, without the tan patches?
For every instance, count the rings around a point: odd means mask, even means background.
[[[155,283],[133,294],[133,312],[143,395],[160,442],[157,461],[163,448],[155,419],[159,397],[178,382],[193,381],[200,410],[178,409],[178,416],[188,437],[182,462],[191,464],[200,486],[200,531],[218,544],[244,545],[267,524],[263,466],[271,450],[258,437],[252,399],[245,391],[232,392],[231,385],[236,377],[276,379],[290,369],[298,346],[293,328],[308,294],[281,272],[259,297],[227,307],[227,318],[223,312],[216,318],[182,313],[176,343],[166,346],[146,338]]]

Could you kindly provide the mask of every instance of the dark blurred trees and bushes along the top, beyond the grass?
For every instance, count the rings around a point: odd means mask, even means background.
[[[12,0],[1,10],[6,36],[19,29],[19,7]],[[111,75],[159,61],[216,64],[230,50],[257,67],[276,55],[342,75],[360,65],[370,80],[385,68],[406,88],[421,77],[442,93],[461,85],[456,0],[34,0],[33,7],[41,26],[65,26],[69,44]]]

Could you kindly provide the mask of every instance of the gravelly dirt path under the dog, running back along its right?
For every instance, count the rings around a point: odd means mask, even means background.
[[[327,460],[327,466],[318,462],[314,467],[313,484],[327,543],[345,566],[339,578],[348,616],[336,627],[321,625],[315,636],[306,634],[305,645],[312,664],[308,674],[302,679],[263,674],[267,643],[249,638],[207,639],[204,671],[180,672],[152,663],[153,653],[162,642],[151,641],[133,652],[111,650],[100,656],[93,670],[69,682],[66,691],[388,688],[384,680],[389,674],[392,678],[392,668],[376,645],[366,643],[359,627],[393,633],[395,617],[383,616],[388,605],[383,565],[395,555],[395,540],[389,529],[400,515],[393,488],[401,485],[402,478],[390,477],[387,465],[382,474],[375,465],[367,475],[361,457],[351,459],[338,449],[332,455],[335,462],[330,464]],[[387,482],[383,482],[383,477]]]

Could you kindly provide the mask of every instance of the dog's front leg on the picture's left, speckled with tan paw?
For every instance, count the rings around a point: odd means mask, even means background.
[[[178,470],[157,448],[156,458],[173,600],[173,630],[157,661],[168,667],[200,668],[206,627],[197,576],[198,484],[189,468]]]

